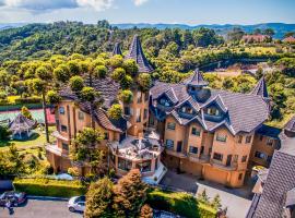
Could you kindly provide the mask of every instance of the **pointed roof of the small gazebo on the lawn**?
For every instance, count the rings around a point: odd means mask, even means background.
[[[19,113],[14,120],[9,123],[9,129],[12,132],[23,132],[32,130],[35,124],[35,121],[27,119],[22,113]]]

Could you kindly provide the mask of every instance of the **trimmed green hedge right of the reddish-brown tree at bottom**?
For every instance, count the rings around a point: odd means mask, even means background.
[[[190,194],[152,190],[148,194],[148,204],[160,210],[170,211],[187,218],[215,218],[216,210],[197,201]]]

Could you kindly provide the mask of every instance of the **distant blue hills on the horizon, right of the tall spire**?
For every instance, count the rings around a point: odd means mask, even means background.
[[[149,24],[149,23],[139,23],[139,24],[113,24],[113,26],[117,26],[119,28],[133,28],[137,26],[138,28],[182,28],[182,29],[194,29],[200,27],[213,28],[221,35],[225,35],[228,31],[234,27],[240,27],[247,33],[251,33],[256,28],[272,28],[275,32],[274,38],[283,38],[284,34],[287,32],[295,32],[295,24],[284,24],[284,23],[264,23],[264,24],[253,24],[253,25],[234,25],[234,24],[212,24],[212,25],[186,25],[186,24]]]

